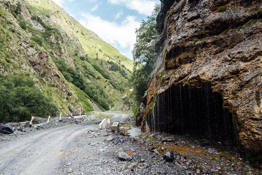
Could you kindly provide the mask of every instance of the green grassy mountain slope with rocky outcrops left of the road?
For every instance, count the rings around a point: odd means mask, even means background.
[[[24,74],[59,112],[114,106],[133,61],[49,0],[0,0],[0,73]]]

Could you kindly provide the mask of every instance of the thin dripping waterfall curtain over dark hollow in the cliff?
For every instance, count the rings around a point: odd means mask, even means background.
[[[147,116],[152,132],[192,134],[218,140],[233,139],[232,114],[209,82],[175,85],[156,96]]]

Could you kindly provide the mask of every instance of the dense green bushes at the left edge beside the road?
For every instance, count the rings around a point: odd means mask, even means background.
[[[32,79],[0,75],[0,120],[24,120],[31,115],[55,115],[58,108],[45,97]]]

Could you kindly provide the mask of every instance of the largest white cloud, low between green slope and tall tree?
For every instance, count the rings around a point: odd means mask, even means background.
[[[81,17],[79,22],[98,34],[104,41],[113,46],[128,48],[130,51],[133,49],[133,44],[136,41],[135,29],[140,25],[134,16],[125,17],[121,24],[103,20],[101,17],[89,13],[82,13]]]

